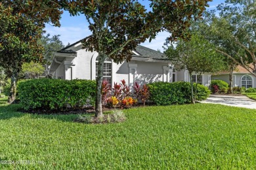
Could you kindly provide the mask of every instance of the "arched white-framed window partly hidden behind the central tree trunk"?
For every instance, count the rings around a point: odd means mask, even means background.
[[[95,75],[96,77],[98,76],[98,57],[96,58],[95,61],[96,67],[95,67]],[[96,78],[95,77],[95,78]],[[109,84],[109,86],[111,87],[111,82],[112,82],[112,61],[111,59],[107,58],[104,61],[104,66],[103,66],[103,79],[102,80],[106,80]]]

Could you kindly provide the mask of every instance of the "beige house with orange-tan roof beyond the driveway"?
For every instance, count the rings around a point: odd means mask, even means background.
[[[253,65],[251,65],[253,67]],[[212,80],[223,80],[229,84],[229,71],[223,71],[211,76]],[[249,71],[238,65],[233,72],[233,87],[256,88],[256,78]]]

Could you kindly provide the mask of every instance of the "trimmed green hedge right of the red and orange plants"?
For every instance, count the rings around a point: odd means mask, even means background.
[[[150,90],[150,100],[156,105],[171,105],[190,103],[190,83],[189,82],[154,82],[148,84]],[[196,84],[194,84],[194,89]],[[207,99],[209,96],[209,89],[201,84],[197,86],[198,101]]]

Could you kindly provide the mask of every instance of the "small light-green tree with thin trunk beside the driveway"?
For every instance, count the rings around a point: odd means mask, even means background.
[[[191,103],[195,103],[192,74],[216,73],[224,68],[223,56],[215,51],[215,46],[200,35],[192,35],[190,41],[179,39],[171,44],[165,55],[175,65],[175,69],[188,70],[191,85]]]

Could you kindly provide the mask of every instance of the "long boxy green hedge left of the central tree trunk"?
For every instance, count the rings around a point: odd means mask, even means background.
[[[85,104],[95,105],[95,80],[33,79],[18,86],[22,108],[64,109],[69,104],[77,109]]]

